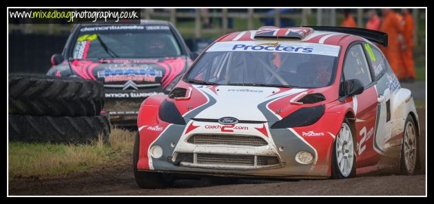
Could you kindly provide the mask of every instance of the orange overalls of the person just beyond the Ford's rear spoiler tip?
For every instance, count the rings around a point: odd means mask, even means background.
[[[389,11],[384,14],[384,19],[380,27],[380,31],[386,32],[389,36],[389,45],[387,47],[380,46],[380,49],[382,49],[384,56],[386,56],[387,61],[389,61],[393,72],[395,72],[397,78],[400,79],[402,78],[402,76],[400,75],[401,60],[399,57],[401,48],[398,41],[398,34],[402,34],[403,30],[404,28],[402,27],[398,17],[393,11]]]

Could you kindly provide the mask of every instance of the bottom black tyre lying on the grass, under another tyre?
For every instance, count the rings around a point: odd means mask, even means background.
[[[50,142],[54,144],[89,144],[110,135],[107,115],[93,117],[52,117],[9,115],[9,141]]]

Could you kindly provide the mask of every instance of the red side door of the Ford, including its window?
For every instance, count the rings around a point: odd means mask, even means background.
[[[378,94],[362,43],[353,43],[344,59],[344,80],[358,79],[364,85],[360,95],[352,96],[355,113],[356,155],[358,168],[371,166],[380,159],[373,150]]]

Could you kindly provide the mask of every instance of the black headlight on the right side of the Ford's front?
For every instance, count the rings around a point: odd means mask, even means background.
[[[300,126],[310,126],[320,120],[321,116],[324,114],[325,106],[312,106],[303,107],[297,111],[287,115],[287,117],[279,120],[271,128],[293,128]]]

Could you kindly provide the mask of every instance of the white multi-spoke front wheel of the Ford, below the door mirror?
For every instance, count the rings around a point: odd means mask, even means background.
[[[355,134],[347,118],[342,122],[333,144],[331,177],[346,179],[355,177]]]

